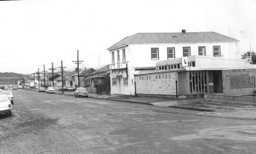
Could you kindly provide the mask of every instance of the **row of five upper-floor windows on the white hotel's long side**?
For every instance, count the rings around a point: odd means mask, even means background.
[[[214,57],[221,56],[221,46],[213,46]],[[198,55],[206,55],[205,46],[198,46]],[[190,46],[183,47],[183,56],[190,56]],[[151,59],[159,59],[159,48],[151,48]],[[167,59],[175,59],[175,48],[167,48]]]

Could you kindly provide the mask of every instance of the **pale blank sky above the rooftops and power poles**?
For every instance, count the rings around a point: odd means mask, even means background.
[[[109,46],[138,32],[218,32],[256,50],[256,0],[0,1],[0,72],[33,73],[61,60],[110,62]]]

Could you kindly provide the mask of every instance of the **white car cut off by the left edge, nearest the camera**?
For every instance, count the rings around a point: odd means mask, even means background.
[[[12,104],[6,95],[0,95],[0,114],[12,116]]]

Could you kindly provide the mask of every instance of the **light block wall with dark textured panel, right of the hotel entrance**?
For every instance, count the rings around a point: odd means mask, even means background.
[[[233,69],[222,71],[225,95],[254,95],[256,90],[255,69]]]

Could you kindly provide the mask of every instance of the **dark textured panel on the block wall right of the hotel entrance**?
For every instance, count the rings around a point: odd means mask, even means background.
[[[255,88],[255,76],[249,74],[226,75],[230,77],[231,89]]]

